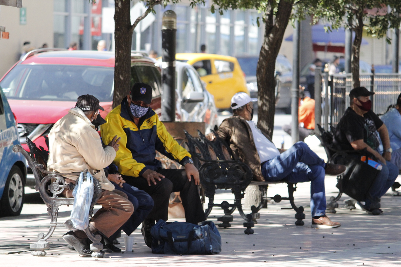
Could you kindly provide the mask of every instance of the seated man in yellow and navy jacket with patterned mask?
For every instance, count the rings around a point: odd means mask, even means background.
[[[150,108],[152,87],[136,83],[121,105],[107,116],[101,125],[101,137],[108,144],[114,136],[121,136],[119,150],[113,163],[123,179],[144,190],[154,200],[154,207],[142,223],[145,243],[151,247],[150,228],[155,220],[168,219],[168,202],[172,192],[180,192],[186,222],[197,224],[206,220],[197,185],[199,173],[191,155],[167,132],[158,115]],[[156,151],[176,160],[181,169],[163,169],[156,160]]]

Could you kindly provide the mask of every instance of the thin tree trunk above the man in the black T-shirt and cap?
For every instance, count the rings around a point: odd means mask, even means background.
[[[355,39],[352,43],[352,55],[351,55],[351,72],[352,81],[354,82],[354,88],[360,86],[359,81],[359,54],[360,54],[360,44],[362,43],[362,33],[363,33],[363,8],[360,8],[356,14],[355,20]]]

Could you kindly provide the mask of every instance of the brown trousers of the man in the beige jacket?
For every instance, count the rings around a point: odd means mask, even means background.
[[[67,197],[73,197],[71,191],[65,191]],[[134,212],[134,205],[128,200],[126,193],[116,189],[103,190],[97,204],[102,207],[92,216],[90,224],[106,237],[120,229]]]

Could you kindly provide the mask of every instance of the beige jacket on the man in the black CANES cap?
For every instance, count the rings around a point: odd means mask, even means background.
[[[73,107],[59,119],[49,133],[49,160],[51,172],[70,173],[90,170],[105,190],[113,191],[114,185],[107,180],[103,168],[115,158],[111,146],[103,149],[95,126],[83,111]],[[65,176],[77,180],[78,176]]]

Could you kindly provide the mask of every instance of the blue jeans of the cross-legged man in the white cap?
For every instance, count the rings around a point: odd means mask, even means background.
[[[310,210],[313,217],[326,214],[324,166],[324,160],[310,150],[307,144],[298,142],[261,167],[265,180],[269,182],[283,179],[291,183],[310,181]]]

